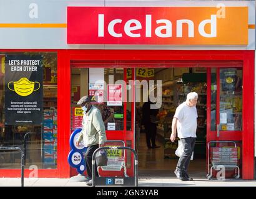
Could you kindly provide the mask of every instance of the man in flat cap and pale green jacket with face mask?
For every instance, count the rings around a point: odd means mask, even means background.
[[[88,96],[83,96],[77,105],[81,106],[84,116],[82,117],[82,131],[79,133],[76,146],[79,146],[79,142],[84,141],[84,146],[87,147],[85,154],[89,179],[87,185],[92,185],[92,154],[107,140],[105,125],[102,121],[101,111],[91,104]],[[97,166],[96,176],[99,176]]]

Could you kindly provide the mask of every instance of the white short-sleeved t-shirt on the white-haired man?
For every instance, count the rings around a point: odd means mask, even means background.
[[[174,114],[177,118],[177,131],[179,138],[197,137],[197,108],[187,106],[186,102],[180,104]]]

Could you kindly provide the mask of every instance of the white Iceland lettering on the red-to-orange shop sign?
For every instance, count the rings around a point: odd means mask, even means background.
[[[195,37],[195,24],[189,19],[180,19],[176,22],[176,37],[184,37],[184,29],[187,28],[187,37]],[[98,15],[98,37],[104,37],[104,14]],[[156,24],[159,24],[154,31],[155,36],[160,38],[172,37],[172,22],[168,19],[159,19],[155,21]],[[119,25],[117,25],[119,24]],[[112,37],[122,37],[125,33],[128,37],[141,37],[140,30],[145,30],[145,37],[152,37],[152,15],[145,15],[145,27],[142,27],[142,24],[137,19],[130,19],[125,24],[122,24],[122,19],[113,19],[109,24],[106,24],[108,34]],[[184,25],[185,24],[185,25]],[[116,25],[118,27],[116,27]],[[206,31],[206,26],[209,26],[209,29]],[[116,30],[115,30],[116,27]],[[137,32],[134,32],[137,30]],[[123,32],[124,31],[124,32]],[[217,15],[212,14],[210,19],[205,19],[200,22],[198,26],[199,34],[202,37],[212,38],[217,37]]]

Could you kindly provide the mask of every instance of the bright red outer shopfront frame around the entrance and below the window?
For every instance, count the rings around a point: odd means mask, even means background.
[[[243,63],[243,131],[242,177],[254,179],[254,50],[1,50],[1,52],[57,51],[57,169],[39,170],[39,177],[70,177],[67,163],[71,129],[71,60],[94,62],[169,61],[169,62],[242,62]],[[102,66],[101,66],[102,67]],[[216,67],[216,66],[215,66]],[[246,103],[244,103],[246,101]],[[208,116],[207,116],[208,118]],[[208,121],[209,122],[209,121]],[[120,139],[120,137],[116,137]],[[25,170],[25,177],[30,170]],[[0,169],[0,176],[19,177],[19,169]]]

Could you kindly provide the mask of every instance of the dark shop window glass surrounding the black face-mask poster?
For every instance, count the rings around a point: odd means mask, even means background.
[[[42,111],[40,124],[6,124],[6,67],[8,57],[41,57],[42,62]],[[16,62],[17,63],[17,62]],[[15,67],[15,65],[14,65]],[[56,169],[57,166],[57,53],[1,53],[0,55],[0,146],[17,146],[26,149],[26,168]],[[18,67],[17,67],[18,68]],[[24,71],[18,71],[24,75]],[[14,80],[16,81],[16,80]],[[16,95],[15,93],[13,95]],[[20,99],[22,101],[22,98]],[[38,106],[39,107],[39,106]],[[37,107],[37,108],[38,108]],[[24,119],[24,118],[21,118]],[[26,142],[25,142],[26,141]],[[21,154],[15,151],[0,151],[0,169],[19,169]]]

